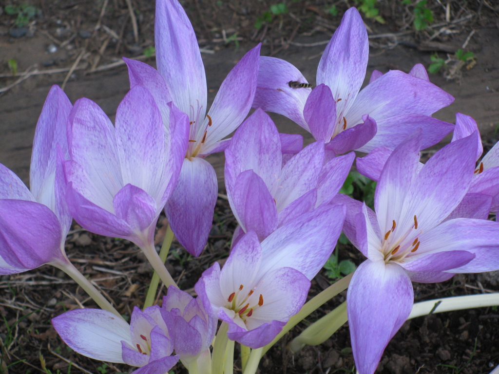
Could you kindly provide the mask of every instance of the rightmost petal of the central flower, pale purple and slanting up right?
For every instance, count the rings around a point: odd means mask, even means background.
[[[328,204],[339,192],[346,177],[348,177],[354,159],[355,153],[351,152],[344,156],[335,157],[324,165],[317,182],[316,206]]]

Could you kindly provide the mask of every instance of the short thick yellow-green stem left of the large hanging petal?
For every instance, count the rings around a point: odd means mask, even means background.
[[[348,317],[346,314],[345,301],[303,330],[300,335],[291,341],[289,349],[291,352],[297,353],[305,345],[317,346],[322,344],[343,326],[346,321],[348,321]]]

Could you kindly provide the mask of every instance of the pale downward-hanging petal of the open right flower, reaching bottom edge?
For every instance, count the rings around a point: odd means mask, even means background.
[[[397,264],[366,260],[355,271],[347,294],[348,324],[355,365],[373,374],[383,351],[414,304],[411,280]]]

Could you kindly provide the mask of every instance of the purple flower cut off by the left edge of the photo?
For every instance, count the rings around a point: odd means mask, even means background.
[[[64,241],[71,216],[64,200],[61,161],[67,158],[66,121],[71,103],[52,86],[36,125],[28,190],[0,164],[0,274],[43,264],[69,266]]]

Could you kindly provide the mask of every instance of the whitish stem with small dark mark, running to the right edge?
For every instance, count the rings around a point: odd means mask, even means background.
[[[450,312],[453,310],[482,308],[499,305],[499,293],[468,296],[454,296],[445,299],[434,299],[414,304],[407,319],[425,316],[432,313]]]

